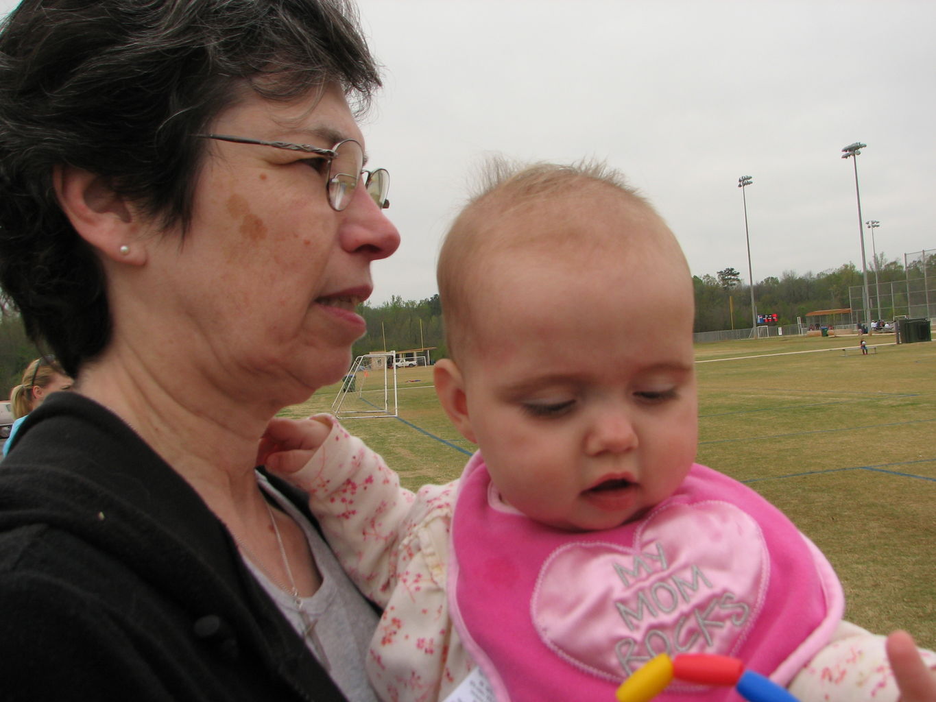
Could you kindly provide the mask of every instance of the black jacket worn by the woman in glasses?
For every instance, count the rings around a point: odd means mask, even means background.
[[[73,393],[0,463],[0,697],[344,699],[195,490]]]

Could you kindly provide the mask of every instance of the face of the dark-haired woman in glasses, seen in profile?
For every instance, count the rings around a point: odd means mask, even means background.
[[[251,92],[209,131],[324,149],[341,139],[364,145],[334,88],[288,103]],[[166,325],[155,338],[214,388],[245,401],[259,392],[271,406],[301,402],[346,373],[351,344],[365,332],[355,307],[371,295],[371,262],[390,256],[400,235],[363,183],[344,211],[332,210],[321,157],[206,143],[189,231],[146,242],[143,269],[157,301],[143,303],[160,305]]]

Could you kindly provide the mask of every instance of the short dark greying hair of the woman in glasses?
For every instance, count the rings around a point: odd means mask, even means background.
[[[250,85],[327,83],[366,108],[380,85],[345,0],[23,0],[0,27],[0,287],[66,373],[110,342],[100,263],[52,169],[93,172],[165,227],[191,219],[203,139]]]

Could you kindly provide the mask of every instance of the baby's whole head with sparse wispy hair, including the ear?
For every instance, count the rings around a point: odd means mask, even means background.
[[[679,243],[614,171],[495,163],[439,256],[439,399],[505,502],[607,529],[695,458],[693,285]]]

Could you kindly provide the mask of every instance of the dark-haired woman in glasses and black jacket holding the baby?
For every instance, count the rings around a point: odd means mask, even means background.
[[[0,28],[0,288],[75,378],[0,470],[5,698],[373,700],[376,612],[255,468],[399,245],[356,120],[379,84],[343,0]]]

